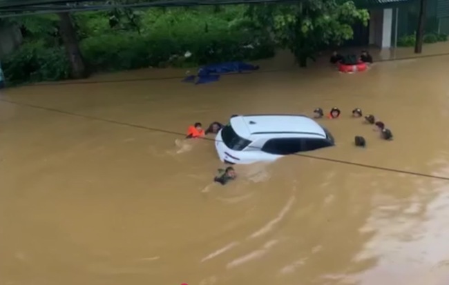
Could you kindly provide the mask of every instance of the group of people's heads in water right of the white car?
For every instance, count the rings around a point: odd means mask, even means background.
[[[329,111],[329,114],[327,115],[327,118],[329,119],[338,119],[340,117],[341,111],[340,109],[334,107]],[[314,118],[315,119],[321,119],[324,117],[324,112],[322,108],[316,108],[314,110]],[[361,108],[355,108],[352,110],[352,117],[354,118],[361,118],[363,117],[362,109]],[[376,132],[379,132],[381,134],[381,138],[385,140],[392,140],[393,134],[390,129],[385,128],[385,124],[383,124],[382,121],[376,121],[376,117],[374,115],[366,115],[365,116],[365,124],[374,125],[374,130]],[[356,146],[366,146],[365,138],[361,136],[356,136],[354,138],[354,143]]]

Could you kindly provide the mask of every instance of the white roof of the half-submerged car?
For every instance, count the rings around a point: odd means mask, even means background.
[[[242,115],[231,117],[232,128],[240,137],[251,135],[312,135],[326,137],[325,130],[305,115]]]

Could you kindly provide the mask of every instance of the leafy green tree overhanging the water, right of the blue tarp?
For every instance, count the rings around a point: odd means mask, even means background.
[[[274,40],[294,54],[300,67],[323,45],[341,44],[352,39],[352,25],[367,25],[367,10],[357,9],[353,1],[304,0],[295,4],[265,3],[250,6],[247,14],[269,30]]]

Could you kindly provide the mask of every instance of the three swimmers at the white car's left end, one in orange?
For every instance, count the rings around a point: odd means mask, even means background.
[[[223,125],[220,124],[218,121],[212,122],[209,127],[204,130],[202,128],[202,124],[197,122],[193,124],[193,126],[189,126],[187,130],[187,136],[186,139],[194,139],[198,137],[204,137],[209,134],[216,135],[221,129],[223,128]],[[236,170],[232,166],[229,166],[225,169],[218,169],[218,175],[213,178],[214,182],[220,183],[222,185],[227,184],[229,181],[236,179]]]

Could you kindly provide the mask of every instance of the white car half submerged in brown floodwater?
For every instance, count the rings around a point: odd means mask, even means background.
[[[334,144],[328,130],[303,115],[233,116],[215,141],[220,160],[227,164],[274,161]]]

